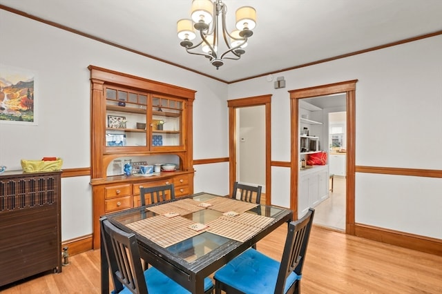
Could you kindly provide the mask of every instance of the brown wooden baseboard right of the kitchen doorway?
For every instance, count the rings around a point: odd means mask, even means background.
[[[442,239],[403,233],[364,224],[355,224],[355,235],[365,239],[442,256]]]

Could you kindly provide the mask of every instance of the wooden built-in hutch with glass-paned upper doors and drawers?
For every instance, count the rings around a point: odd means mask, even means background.
[[[88,69],[93,248],[99,248],[99,217],[140,206],[140,186],[173,183],[176,197],[193,194],[195,91],[97,66]],[[177,170],[145,177],[126,176],[122,169],[119,175],[109,175],[117,162],[124,166],[135,157],[150,165],[155,156],[170,157]]]

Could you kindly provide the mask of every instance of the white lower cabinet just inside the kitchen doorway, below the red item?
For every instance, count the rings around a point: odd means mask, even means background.
[[[299,171],[298,217],[329,197],[329,166],[314,166]]]

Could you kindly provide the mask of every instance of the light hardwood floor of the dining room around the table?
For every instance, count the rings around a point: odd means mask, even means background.
[[[280,259],[287,226],[258,242]],[[59,274],[0,288],[2,294],[100,293],[99,251],[70,257]],[[1,277],[0,277],[1,278]],[[442,293],[442,257],[314,226],[302,273],[302,293]]]

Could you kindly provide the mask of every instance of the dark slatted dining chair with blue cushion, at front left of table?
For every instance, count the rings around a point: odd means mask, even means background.
[[[153,266],[143,271],[135,234],[120,230],[106,217],[99,222],[115,287],[112,293],[190,293]],[[209,277],[204,279],[204,293],[213,293]]]

